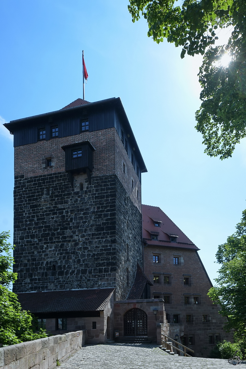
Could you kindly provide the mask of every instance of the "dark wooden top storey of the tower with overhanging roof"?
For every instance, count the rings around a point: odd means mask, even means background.
[[[119,97],[94,103],[77,99],[60,110],[10,121],[4,126],[14,135],[14,146],[115,128],[130,161],[134,157],[139,170],[147,172]]]

